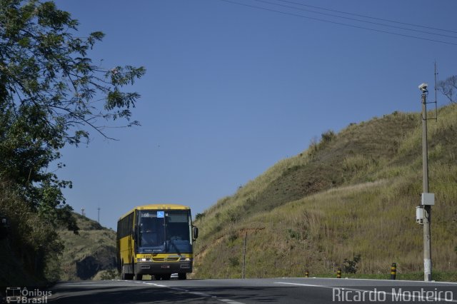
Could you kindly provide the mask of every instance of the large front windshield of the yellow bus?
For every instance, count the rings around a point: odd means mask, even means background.
[[[139,211],[139,253],[191,253],[189,211]]]

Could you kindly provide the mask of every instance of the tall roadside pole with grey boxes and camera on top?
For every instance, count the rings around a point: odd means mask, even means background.
[[[423,206],[423,280],[431,281],[431,205],[435,203],[433,193],[428,193],[428,148],[427,148],[427,83],[422,83],[422,201]],[[433,198],[432,198],[433,197]]]

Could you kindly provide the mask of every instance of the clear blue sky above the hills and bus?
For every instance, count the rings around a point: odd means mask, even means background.
[[[62,151],[66,167],[57,173],[74,182],[64,193],[75,211],[84,207],[96,219],[100,207],[101,224],[114,229],[119,216],[146,203],[204,212],[329,129],[420,111],[418,85],[433,90],[434,61],[438,78],[457,74],[457,38],[233,1],[264,9],[221,0],[56,1],[80,21],[78,35],[106,34],[89,54],[94,62],[147,69],[131,88],[141,93],[134,119],[142,126],[106,130],[119,141],[92,132],[89,146]],[[457,37],[454,0],[292,1]]]

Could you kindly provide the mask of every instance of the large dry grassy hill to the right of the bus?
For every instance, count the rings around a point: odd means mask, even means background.
[[[457,280],[457,105],[428,121],[433,270]],[[394,112],[327,131],[198,216],[194,278],[332,275],[361,255],[357,273],[423,271],[420,113]]]

